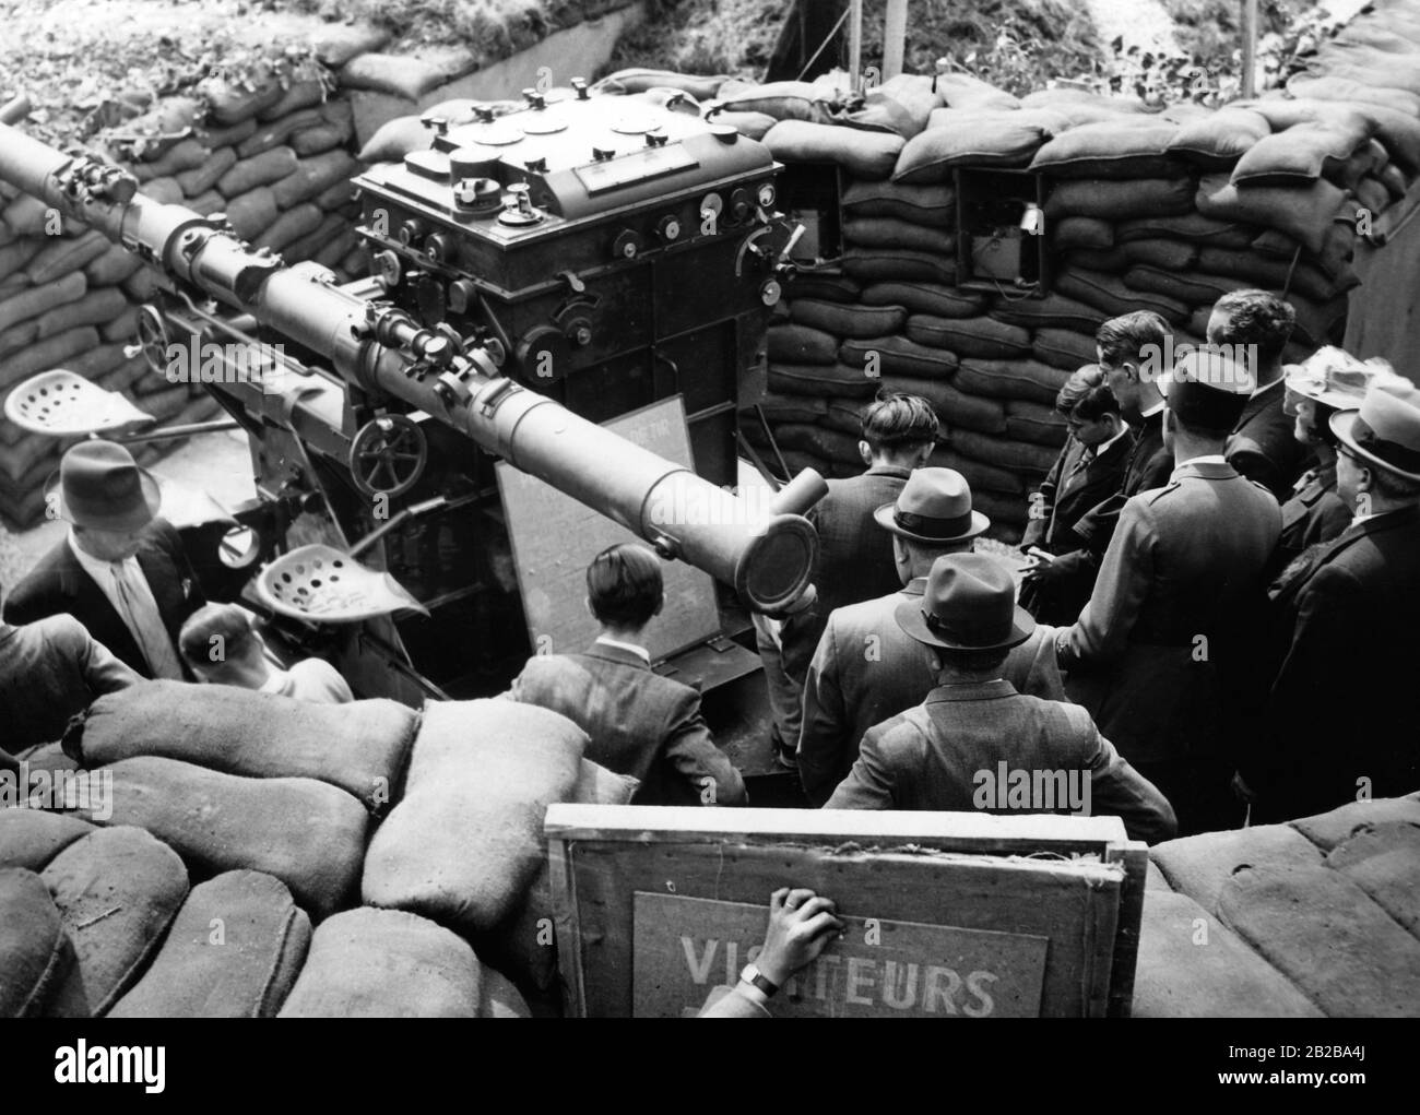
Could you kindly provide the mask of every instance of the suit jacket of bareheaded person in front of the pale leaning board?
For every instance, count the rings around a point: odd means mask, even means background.
[[[588,758],[640,778],[632,798],[638,805],[746,803],[740,771],[700,716],[700,695],[629,651],[594,642],[582,655],[537,655],[508,696],[581,727],[591,737]],[[707,777],[714,780],[709,798]]]

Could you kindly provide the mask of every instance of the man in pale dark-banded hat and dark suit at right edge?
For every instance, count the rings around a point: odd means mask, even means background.
[[[1420,788],[1420,391],[1377,379],[1331,429],[1355,518],[1299,558],[1272,602],[1285,653],[1265,734],[1240,763],[1261,820]]]

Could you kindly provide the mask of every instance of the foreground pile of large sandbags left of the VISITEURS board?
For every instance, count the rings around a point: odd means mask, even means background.
[[[106,695],[17,756],[0,1017],[555,1014],[544,814],[638,785],[585,743],[510,700]]]

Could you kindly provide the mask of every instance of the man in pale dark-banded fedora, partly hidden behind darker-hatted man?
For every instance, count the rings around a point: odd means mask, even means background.
[[[822,805],[858,758],[863,733],[922,702],[936,685],[932,652],[897,626],[905,601],[922,601],[927,574],[943,554],[968,553],[991,526],[971,507],[971,489],[954,469],[919,469],[896,503],[873,511],[875,530],[890,540],[902,588],[836,609],[804,683],[804,733],[798,768],[809,803]],[[1011,649],[1004,676],[1020,692],[1064,700],[1055,666],[1054,628]]]

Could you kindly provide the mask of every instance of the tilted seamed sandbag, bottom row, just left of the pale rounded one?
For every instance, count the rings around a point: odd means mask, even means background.
[[[285,883],[229,871],[193,888],[148,972],[109,1018],[270,1018],[311,943]]]

